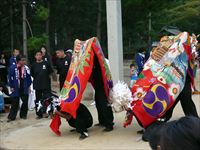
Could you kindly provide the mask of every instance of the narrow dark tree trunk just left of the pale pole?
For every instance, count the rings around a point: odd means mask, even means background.
[[[98,0],[97,38],[99,39],[99,41],[101,40],[101,12],[102,12],[101,0]]]

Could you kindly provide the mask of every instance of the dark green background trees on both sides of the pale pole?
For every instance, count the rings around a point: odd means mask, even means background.
[[[199,0],[121,0],[124,54],[148,49],[166,25],[200,33]],[[107,53],[106,0],[26,0],[28,53],[46,45],[72,48],[76,38],[98,36]],[[151,25],[149,28],[149,25]],[[22,0],[0,3],[0,48],[22,49]],[[130,55],[129,55],[130,56]],[[132,57],[132,56],[131,56]]]

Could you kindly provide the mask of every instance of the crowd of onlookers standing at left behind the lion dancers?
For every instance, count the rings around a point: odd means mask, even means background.
[[[37,119],[48,117],[45,112],[38,114],[38,101],[51,94],[50,76],[56,80],[56,73],[59,74],[61,89],[71,62],[72,50],[58,49],[55,52],[56,58],[52,58],[46,47],[41,46],[34,54],[35,61],[29,64],[27,64],[28,58],[18,49],[12,51],[9,59],[3,52],[0,55],[1,111],[4,111],[5,104],[11,105],[7,122],[16,119],[19,105],[20,118],[26,119],[30,103],[31,108],[36,110]]]

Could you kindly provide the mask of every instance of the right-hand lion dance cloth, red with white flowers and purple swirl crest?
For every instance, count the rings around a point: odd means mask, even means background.
[[[146,128],[173,106],[184,87],[190,67],[191,42],[192,37],[183,32],[177,36],[163,37],[160,45],[152,50],[139,79],[131,89],[132,98],[129,98],[126,107],[132,112],[128,113],[124,126],[129,125],[135,116],[138,123]],[[119,100],[113,103],[116,102],[119,103]]]

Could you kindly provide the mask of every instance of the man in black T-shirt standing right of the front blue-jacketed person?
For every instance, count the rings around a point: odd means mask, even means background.
[[[50,74],[53,72],[53,69],[48,62],[43,61],[41,51],[36,52],[35,59],[36,62],[31,67],[31,75],[33,77],[33,89],[35,89],[36,95],[36,119],[40,119],[43,117],[43,114],[38,113],[37,107],[39,101],[42,100],[45,95],[51,93]]]

